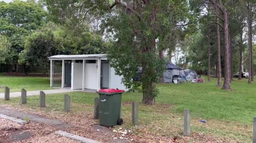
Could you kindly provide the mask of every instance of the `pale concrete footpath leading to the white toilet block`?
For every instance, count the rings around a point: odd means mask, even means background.
[[[75,92],[75,91],[82,91],[82,90],[72,90],[72,89],[43,90],[45,94],[56,94],[56,93]],[[40,91],[27,91],[27,96],[39,95],[39,94],[40,94]],[[10,97],[19,97],[19,96],[21,96],[21,92],[10,92]],[[4,93],[0,93],[0,98],[4,98]]]

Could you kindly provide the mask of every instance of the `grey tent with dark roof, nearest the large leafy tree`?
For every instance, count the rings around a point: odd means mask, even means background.
[[[166,64],[166,70],[163,73],[164,82],[172,83],[174,78],[180,77],[181,68],[177,67],[173,63]]]

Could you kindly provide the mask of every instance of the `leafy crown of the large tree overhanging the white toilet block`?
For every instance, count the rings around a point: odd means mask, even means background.
[[[156,52],[174,45],[178,38],[176,31],[181,33],[179,36],[183,34],[185,28],[180,27],[177,30],[176,24],[187,22],[189,5],[186,0],[152,0],[150,4],[144,1],[142,5],[131,0],[130,3],[134,4],[133,10],[129,8],[129,3],[123,1],[45,0],[47,9],[53,15],[53,21],[76,31],[78,36],[85,34],[90,37],[90,34],[80,33],[77,29],[86,25],[92,28],[95,19],[101,20],[101,30],[96,32],[103,33],[107,29],[105,38],[113,40],[114,46],[110,46],[108,60],[116,69],[116,74],[123,76],[123,83],[131,90],[141,89],[140,91],[155,97],[157,89],[154,83],[158,81],[164,69],[164,61],[159,59]],[[177,38],[173,38],[173,35]],[[99,41],[95,38],[96,42]],[[155,47],[156,39],[161,42],[158,49]],[[72,39],[71,43],[73,41]],[[101,45],[98,42],[97,44]],[[75,49],[75,44],[71,45],[74,45],[71,49]],[[79,45],[82,45],[82,51],[91,49],[88,44],[84,45],[84,42]],[[89,46],[97,52],[96,47]],[[80,50],[75,52],[79,53]],[[136,76],[138,67],[143,69],[142,83],[131,81],[131,78]],[[139,88],[141,85],[142,88]]]

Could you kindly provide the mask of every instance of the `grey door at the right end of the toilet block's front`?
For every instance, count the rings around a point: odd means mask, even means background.
[[[109,63],[101,60],[101,89],[109,88]]]

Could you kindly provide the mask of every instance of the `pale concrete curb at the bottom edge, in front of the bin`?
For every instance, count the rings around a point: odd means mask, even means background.
[[[88,139],[88,138],[84,138],[84,137],[81,137],[81,136],[77,136],[75,134],[70,134],[70,133],[64,132],[62,130],[59,130],[59,131],[55,132],[54,134],[58,134],[60,136],[64,136],[64,137],[71,138],[71,139],[75,139],[75,140],[81,141],[83,143],[101,143],[99,141],[94,141],[92,139]]]

